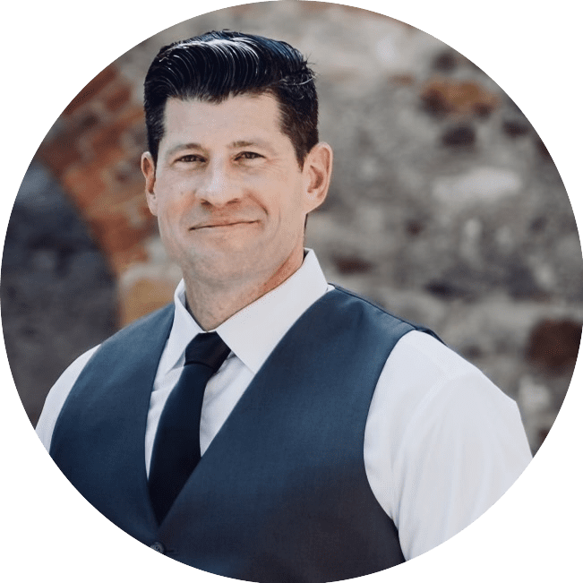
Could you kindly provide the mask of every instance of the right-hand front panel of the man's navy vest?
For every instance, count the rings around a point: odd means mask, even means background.
[[[403,562],[397,530],[368,484],[363,448],[382,367],[411,329],[336,290],[313,304],[168,511],[158,533],[167,555],[261,582],[351,579]]]

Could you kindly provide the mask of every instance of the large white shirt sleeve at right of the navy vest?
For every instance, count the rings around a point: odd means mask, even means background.
[[[371,403],[364,462],[407,561],[478,519],[531,459],[512,399],[433,337],[399,340]]]

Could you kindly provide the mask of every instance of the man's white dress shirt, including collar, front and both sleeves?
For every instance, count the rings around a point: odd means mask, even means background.
[[[279,287],[216,329],[231,349],[207,384],[201,452],[207,450],[270,352],[333,287],[308,251]],[[147,470],[164,404],[201,327],[176,288],[172,330],[160,358],[146,427]],[[64,401],[97,347],[67,368],[47,396],[37,433],[47,451]],[[532,459],[515,402],[475,366],[424,332],[399,340],[382,370],[364,433],[364,466],[377,501],[399,530],[407,561],[471,524],[499,500]]]

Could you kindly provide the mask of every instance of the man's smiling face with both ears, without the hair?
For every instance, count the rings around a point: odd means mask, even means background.
[[[320,144],[300,168],[270,95],[220,104],[168,99],[158,163],[146,153],[142,171],[160,236],[184,278],[261,282],[301,262],[304,219],[325,197],[330,154]]]

